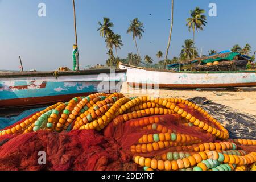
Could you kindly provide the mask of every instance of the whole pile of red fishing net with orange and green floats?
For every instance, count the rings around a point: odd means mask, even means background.
[[[229,139],[204,109],[179,98],[76,97],[0,134],[0,170],[245,171],[256,162],[256,140]]]

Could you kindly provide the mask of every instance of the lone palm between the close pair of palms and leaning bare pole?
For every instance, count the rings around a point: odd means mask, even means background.
[[[130,27],[127,30],[127,34],[133,33],[133,40],[135,42],[135,46],[136,46],[136,49],[137,49],[138,56],[139,56],[139,50],[138,50],[138,47],[137,47],[136,38],[141,39],[143,32],[144,32],[143,23],[140,22],[138,20],[138,18],[134,18],[133,20],[131,20]]]

